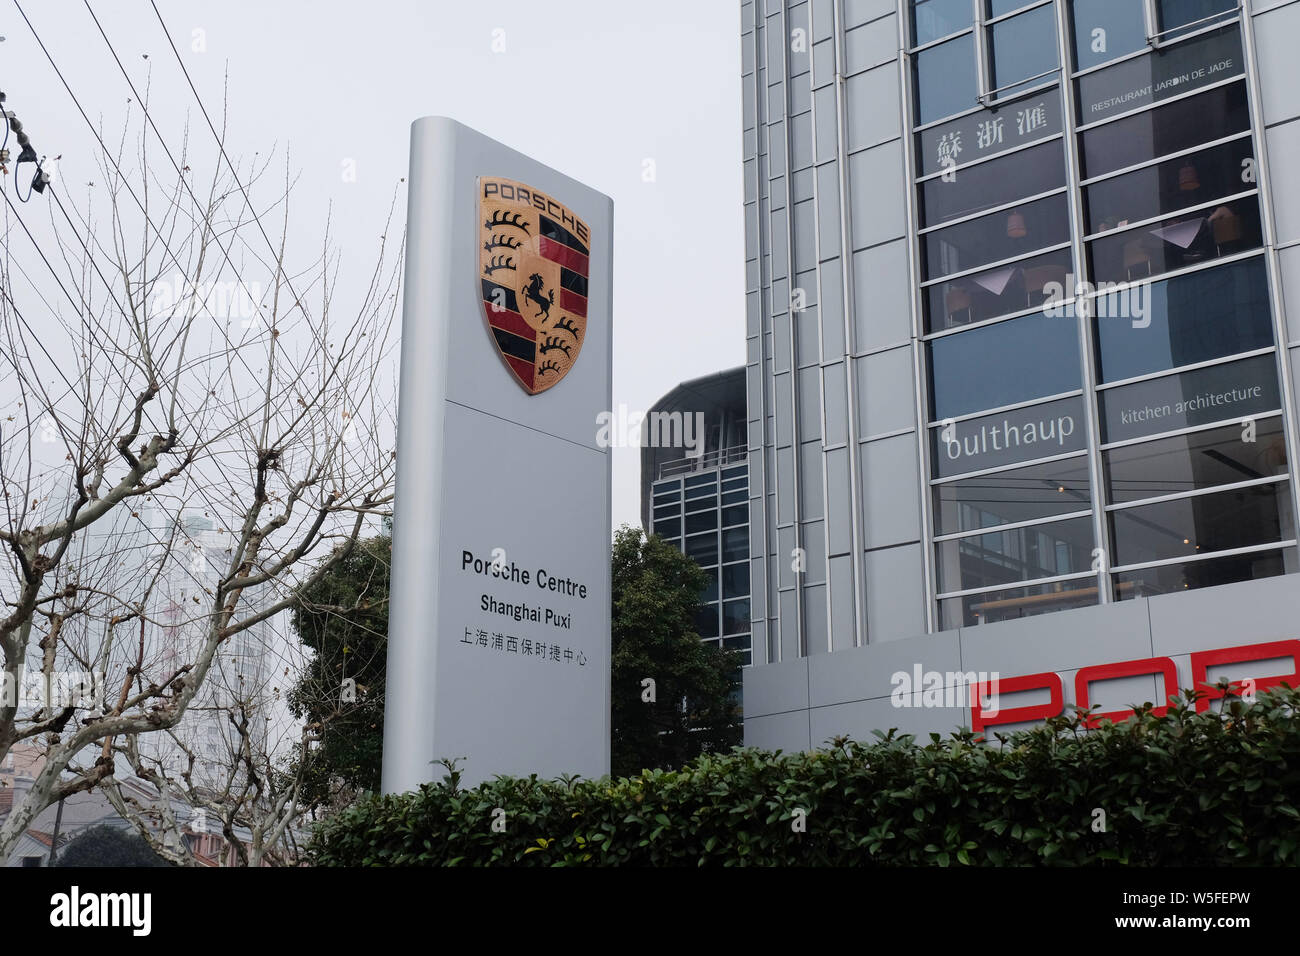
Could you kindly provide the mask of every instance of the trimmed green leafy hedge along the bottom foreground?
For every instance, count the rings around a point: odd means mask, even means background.
[[[1000,743],[965,732],[919,745],[890,731],[797,754],[734,748],[625,779],[462,790],[451,767],[442,783],[324,822],[309,856],[335,866],[1300,862],[1300,691],[1201,714],[1192,697],[1092,731],[1082,711]]]

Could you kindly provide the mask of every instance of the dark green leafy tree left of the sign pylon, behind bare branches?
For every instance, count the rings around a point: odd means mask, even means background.
[[[359,541],[299,594],[294,628],[316,652],[289,695],[318,740],[302,766],[307,805],[337,806],[380,788],[391,558],[391,533]]]

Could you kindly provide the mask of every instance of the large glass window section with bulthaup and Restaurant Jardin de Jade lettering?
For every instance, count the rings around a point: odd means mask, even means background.
[[[937,628],[1295,571],[1227,0],[914,0]]]

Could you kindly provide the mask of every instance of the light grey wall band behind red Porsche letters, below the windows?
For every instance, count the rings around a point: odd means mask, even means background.
[[[745,744],[803,750],[841,735],[871,743],[872,731],[890,727],[919,737],[968,727],[967,706],[894,705],[892,676],[916,667],[945,675],[983,671],[1001,680],[1052,671],[1061,676],[1069,708],[1076,702],[1075,675],[1084,667],[1167,657],[1176,667],[1179,689],[1186,689],[1192,687],[1190,656],[1196,652],[1297,637],[1300,580],[1282,575],[748,667]],[[1288,672],[1265,662],[1258,672],[1242,667],[1230,676],[1243,680]],[[1295,669],[1300,669],[1300,659]],[[1157,683],[1154,676],[1097,682],[1091,702],[1105,710],[1144,701],[1158,706],[1165,701]],[[1004,706],[1046,700],[1045,695],[1026,697]],[[989,734],[1011,730],[1017,727],[994,727]]]

